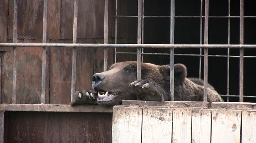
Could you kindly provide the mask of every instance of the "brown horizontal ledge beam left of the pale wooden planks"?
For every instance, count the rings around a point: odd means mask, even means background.
[[[99,105],[54,105],[54,104],[0,104],[5,111],[37,111],[37,112],[112,112],[112,107]]]

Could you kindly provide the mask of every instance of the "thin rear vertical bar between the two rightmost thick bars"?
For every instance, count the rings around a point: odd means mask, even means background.
[[[228,0],[228,16],[230,16],[230,0]],[[228,45],[230,44],[230,18],[228,18]],[[229,56],[230,56],[230,49],[228,48],[228,55],[227,55],[227,95],[229,95]],[[227,96],[227,102],[229,101],[229,97]]]

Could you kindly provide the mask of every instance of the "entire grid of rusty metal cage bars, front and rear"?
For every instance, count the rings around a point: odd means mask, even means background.
[[[73,100],[73,95],[75,92],[75,80],[76,80],[76,47],[104,47],[104,71],[107,70],[107,59],[108,59],[108,47],[110,48],[137,48],[137,80],[140,79],[141,72],[141,58],[143,59],[143,54],[164,54],[164,53],[144,53],[143,48],[169,48],[170,49],[170,91],[171,91],[171,100],[173,100],[173,66],[174,66],[174,55],[185,55],[185,56],[199,56],[200,64],[201,58],[204,56],[204,101],[207,101],[207,75],[208,75],[208,48],[228,48],[228,61],[230,57],[229,48],[239,48],[239,98],[240,102],[243,102],[243,49],[244,48],[256,48],[256,45],[243,45],[243,0],[240,0],[240,16],[230,16],[230,0],[228,1],[228,16],[208,16],[209,11],[209,0],[205,0],[205,13],[202,16],[202,0],[201,0],[201,8],[200,8],[200,16],[175,16],[175,5],[174,0],[171,0],[171,14],[170,16],[144,16],[144,0],[138,0],[138,16],[118,16],[117,15],[117,0],[115,1],[115,44],[108,44],[108,0],[105,0],[105,10],[104,10],[104,44],[78,44],[76,43],[76,34],[77,34],[77,12],[78,12],[78,0],[74,0],[74,23],[73,23],[73,42],[72,43],[46,43],[46,27],[47,27],[47,0],[44,0],[44,12],[43,12],[43,41],[42,43],[17,43],[17,0],[14,0],[14,18],[13,18],[13,43],[0,43],[0,47],[13,47],[13,96],[12,102],[16,102],[16,90],[17,90],[17,52],[16,47],[43,47],[43,59],[42,59],[42,92],[41,92],[41,103],[45,103],[45,80],[46,80],[46,47],[72,47],[72,81],[71,81],[71,101]],[[138,30],[137,30],[137,44],[117,44],[117,18],[118,17],[137,17],[138,18]],[[143,20],[145,17],[170,17],[171,20],[171,44],[143,44]],[[200,34],[202,34],[202,18],[204,17],[204,44],[202,44],[202,35],[200,35],[200,44],[191,44],[191,45],[183,45],[183,44],[174,44],[174,18],[175,17],[195,17],[200,18]],[[208,18],[216,17],[216,18],[228,18],[228,45],[208,45]],[[240,19],[240,44],[239,45],[230,45],[230,18],[238,18]],[[256,16],[247,16],[253,17]],[[174,48],[204,48],[204,55],[202,55],[202,51],[200,49],[200,54],[174,54]],[[121,52],[117,52],[115,49],[115,62],[116,62],[116,54]],[[126,52],[127,53],[127,52]],[[130,53],[130,52],[129,52]],[[209,55],[209,56],[219,56],[219,55]],[[255,56],[248,56],[255,57]],[[142,61],[143,62],[143,61]],[[229,62],[228,62],[229,64]],[[201,66],[200,66],[201,68]],[[199,69],[200,71],[200,69]],[[228,65],[229,72],[229,65]],[[200,76],[199,72],[199,76]],[[227,78],[229,80],[229,78]],[[229,93],[229,85],[227,85],[228,93]],[[236,95],[223,95],[223,96],[236,96]],[[247,96],[247,97],[255,97],[255,96]]]

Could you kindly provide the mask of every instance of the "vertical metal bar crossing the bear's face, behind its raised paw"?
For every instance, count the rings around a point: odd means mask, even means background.
[[[141,9],[142,9],[142,0],[138,0],[138,28],[137,28],[137,43],[141,44]],[[137,80],[141,79],[141,48],[137,48]],[[139,96],[137,96],[137,100]]]

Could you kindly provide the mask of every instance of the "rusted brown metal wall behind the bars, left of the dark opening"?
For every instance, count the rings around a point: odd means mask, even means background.
[[[110,0],[108,43],[114,43],[114,6],[114,0]],[[0,7],[0,42],[12,43],[13,0],[1,0]],[[73,9],[73,0],[48,0],[47,43],[72,43]],[[17,0],[17,11],[18,43],[41,43],[43,0]],[[127,13],[128,7],[122,11]],[[119,25],[124,27],[129,23],[127,20]],[[129,30],[122,31],[118,34],[122,37],[121,40],[126,42],[136,39],[136,34],[132,37],[127,34],[130,33]],[[103,34],[104,1],[78,0],[77,43],[103,43]],[[13,49],[2,47],[0,50],[8,51],[2,54],[1,103],[12,103]],[[108,51],[108,65],[111,65],[114,62],[114,49]],[[17,47],[17,55],[16,103],[41,103],[42,47]],[[91,76],[95,72],[103,71],[103,48],[78,47],[76,55],[76,90],[91,89]],[[45,103],[69,104],[72,49],[46,48],[46,59]]]

